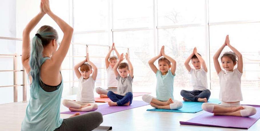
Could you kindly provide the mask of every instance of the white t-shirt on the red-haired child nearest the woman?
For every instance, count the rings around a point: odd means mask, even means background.
[[[95,97],[94,97],[94,87],[95,87],[95,82],[92,78],[92,75],[89,76],[88,79],[84,79],[81,76],[79,78],[79,90],[77,93],[77,99],[76,101],[79,102],[95,102]]]

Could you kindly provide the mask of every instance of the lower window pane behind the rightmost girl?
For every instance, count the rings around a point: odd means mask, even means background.
[[[219,78],[214,68],[213,55],[225,41],[225,34],[229,34],[230,44],[243,55],[241,87],[244,89],[259,89],[260,30],[256,29],[260,29],[260,23],[225,24],[209,27],[211,88],[219,88]],[[232,50],[225,47],[223,52],[227,51]],[[219,62],[221,62],[220,59]]]

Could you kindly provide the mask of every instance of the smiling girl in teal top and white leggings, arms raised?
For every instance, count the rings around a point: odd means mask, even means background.
[[[159,68],[154,65],[157,59],[159,59]],[[176,71],[176,61],[165,54],[164,46],[162,46],[159,55],[151,58],[148,63],[152,71],[156,74],[156,98],[151,95],[143,95],[143,101],[157,109],[177,110],[182,108],[182,103],[173,99],[173,81]]]

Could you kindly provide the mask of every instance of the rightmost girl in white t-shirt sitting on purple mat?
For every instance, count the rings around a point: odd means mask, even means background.
[[[219,65],[219,55],[222,50],[228,46],[233,52],[225,52],[221,57],[221,63],[224,70]],[[238,57],[238,60],[236,59]],[[203,103],[202,109],[214,113],[214,115],[225,116],[253,116],[256,114],[255,107],[242,105],[240,101],[243,101],[241,93],[241,76],[243,73],[243,58],[242,54],[229,44],[229,36],[226,36],[226,40],[221,48],[213,56],[215,69],[219,76],[220,92],[219,100],[222,101],[220,105],[213,103]],[[234,69],[237,64],[237,68]]]

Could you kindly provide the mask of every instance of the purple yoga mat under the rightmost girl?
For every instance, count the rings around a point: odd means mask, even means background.
[[[180,124],[248,129],[260,118],[260,105],[249,106],[257,110],[256,114],[250,117],[214,116],[213,113],[206,112],[186,122],[180,121]]]

